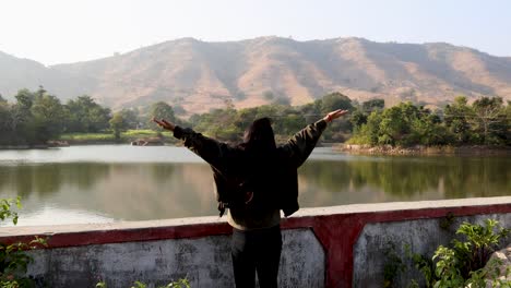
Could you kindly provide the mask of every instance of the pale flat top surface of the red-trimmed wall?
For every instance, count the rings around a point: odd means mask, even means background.
[[[287,221],[293,223],[294,218],[328,216],[328,215],[347,215],[347,214],[364,214],[364,213],[379,213],[379,212],[399,212],[399,211],[418,211],[418,209],[436,209],[436,208],[463,208],[470,207],[470,211],[487,209],[485,206],[502,206],[503,209],[511,205],[511,196],[500,197],[473,197],[473,199],[456,199],[456,200],[439,200],[439,201],[417,201],[417,202],[389,202],[389,203],[371,203],[371,204],[350,204],[341,206],[319,207],[319,208],[300,208],[292,217],[283,219],[285,226]],[[427,213],[426,213],[427,214]],[[20,226],[20,227],[1,227],[0,241],[9,242],[9,240],[16,240],[19,237],[24,236],[57,236],[61,233],[83,233],[83,232],[105,232],[116,231],[132,231],[145,232],[152,229],[166,229],[173,228],[179,230],[178,227],[191,228],[187,233],[200,235],[204,227],[221,226],[219,233],[230,233],[231,229],[227,225],[226,217],[209,216],[209,217],[191,217],[191,218],[177,218],[177,219],[158,219],[146,221],[118,221],[107,224],[76,224],[76,225],[48,225],[48,226]],[[223,227],[225,226],[226,227]],[[289,225],[289,228],[293,225]],[[224,230],[224,228],[226,228]],[[141,230],[142,229],[142,230]],[[207,235],[212,232],[206,229]],[[214,231],[213,231],[214,232]],[[164,235],[141,235],[140,240],[154,240],[158,239],[176,239],[189,237],[187,233],[164,233]],[[99,241],[95,238],[91,241]],[[120,242],[132,241],[129,239],[118,239]],[[126,240],[126,241],[123,241]],[[98,242],[102,243],[102,242]],[[81,243],[70,243],[70,245],[81,245]]]

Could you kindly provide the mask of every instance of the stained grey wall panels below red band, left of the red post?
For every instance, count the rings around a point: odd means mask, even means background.
[[[94,244],[32,251],[28,274],[49,287],[164,286],[188,278],[191,287],[234,287],[230,236]],[[324,253],[310,229],[283,231],[280,287],[322,287]],[[153,287],[153,286],[151,286]]]

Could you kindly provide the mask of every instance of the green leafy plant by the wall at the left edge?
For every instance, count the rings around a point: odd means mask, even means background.
[[[0,200],[0,219],[2,221],[11,219],[16,225],[19,216],[14,207],[21,208],[20,197]],[[46,245],[46,239],[36,237],[28,243],[0,243],[0,287],[35,287],[34,280],[25,277],[27,266],[33,261],[25,251],[38,245]]]

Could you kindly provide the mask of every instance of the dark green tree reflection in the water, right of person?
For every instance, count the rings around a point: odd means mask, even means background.
[[[510,167],[506,157],[312,160],[300,168],[300,191],[310,206],[500,196],[511,194]]]

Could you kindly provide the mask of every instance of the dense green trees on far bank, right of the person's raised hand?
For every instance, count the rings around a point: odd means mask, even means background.
[[[381,100],[370,100],[353,112],[352,123],[354,144],[511,145],[511,104],[501,97],[468,105],[460,96],[435,111],[409,101],[383,109]]]

